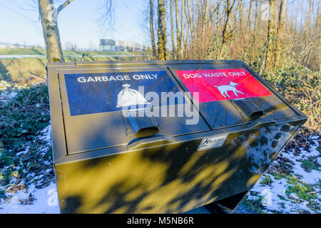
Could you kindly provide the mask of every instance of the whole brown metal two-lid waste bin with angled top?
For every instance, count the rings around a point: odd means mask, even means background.
[[[307,119],[242,61],[47,71],[63,213],[233,210]]]

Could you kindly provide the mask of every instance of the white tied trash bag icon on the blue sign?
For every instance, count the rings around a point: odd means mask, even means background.
[[[124,84],[124,89],[118,93],[117,108],[129,105],[150,104],[137,90],[129,88],[129,84]]]

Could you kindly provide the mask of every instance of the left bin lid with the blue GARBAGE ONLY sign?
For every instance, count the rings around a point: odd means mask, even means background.
[[[147,128],[148,133],[170,137],[210,130],[202,118],[197,124],[186,125],[188,117],[177,115],[183,105],[193,104],[183,97],[183,90],[165,66],[61,68],[58,79],[68,154],[128,145],[143,137]],[[163,93],[168,92],[174,99],[166,98],[168,94]],[[153,118],[126,115],[140,113],[151,104],[154,113],[166,106],[176,114],[168,117],[160,113]]]

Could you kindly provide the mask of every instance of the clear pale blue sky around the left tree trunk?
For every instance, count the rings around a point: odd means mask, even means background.
[[[77,48],[98,48],[100,38],[149,44],[143,15],[146,1],[116,1],[113,32],[98,26],[104,1],[73,0],[60,12],[58,28],[63,48],[67,43]],[[56,7],[61,3],[63,0],[58,0]],[[44,46],[36,0],[0,0],[0,28],[0,42]]]

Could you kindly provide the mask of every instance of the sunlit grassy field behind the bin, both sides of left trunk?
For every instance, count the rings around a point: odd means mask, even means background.
[[[44,48],[4,48],[0,49],[0,56],[4,55],[39,55],[26,58],[0,59],[0,90],[12,86],[31,86],[44,82],[46,78],[46,50]],[[150,53],[141,52],[109,52],[109,51],[63,51],[66,62],[76,61],[117,61],[117,60],[148,60]],[[106,57],[96,57],[106,56]]]

